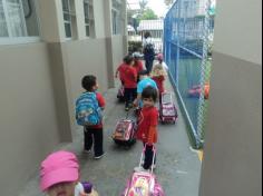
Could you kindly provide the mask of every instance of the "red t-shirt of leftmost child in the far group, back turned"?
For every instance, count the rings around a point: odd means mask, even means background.
[[[125,88],[136,88],[137,87],[137,72],[132,66],[125,66],[124,71],[124,87]]]

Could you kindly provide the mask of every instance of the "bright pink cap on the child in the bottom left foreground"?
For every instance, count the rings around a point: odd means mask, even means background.
[[[40,188],[42,192],[58,183],[76,182],[79,178],[77,157],[69,151],[49,155],[40,168]]]

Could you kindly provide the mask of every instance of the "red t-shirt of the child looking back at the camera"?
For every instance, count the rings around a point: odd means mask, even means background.
[[[148,143],[152,135],[154,143],[157,143],[157,133],[149,133],[150,127],[158,125],[158,110],[156,107],[143,107],[138,117],[137,138],[144,143]]]

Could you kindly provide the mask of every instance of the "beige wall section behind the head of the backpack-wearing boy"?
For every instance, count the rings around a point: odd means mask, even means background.
[[[97,76],[100,90],[108,89],[105,39],[68,41],[62,43],[62,48],[74,98],[82,91],[81,78],[85,75]]]

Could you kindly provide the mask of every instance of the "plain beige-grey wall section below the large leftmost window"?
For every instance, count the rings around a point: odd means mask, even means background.
[[[0,59],[0,195],[16,195],[60,136],[47,46],[1,46]]]

